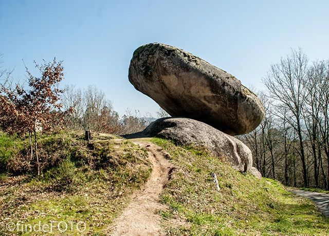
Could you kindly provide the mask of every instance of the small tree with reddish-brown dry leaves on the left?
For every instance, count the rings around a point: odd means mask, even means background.
[[[33,76],[26,67],[27,88],[19,83],[11,86],[8,80],[1,84],[0,123],[7,133],[28,134],[30,162],[35,157],[40,175],[38,131],[50,131],[54,124],[62,123],[71,109],[62,112],[62,104],[58,102],[64,92],[59,88],[59,83],[64,79],[62,62],[54,59],[52,62],[44,61],[42,65],[35,63],[35,67],[39,69],[41,77]]]

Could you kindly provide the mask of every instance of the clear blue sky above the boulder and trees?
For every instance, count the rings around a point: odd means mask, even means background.
[[[0,52],[24,79],[33,60],[64,61],[64,84],[95,84],[121,115],[157,104],[127,79],[133,51],[170,44],[262,89],[270,64],[302,47],[329,58],[329,1],[0,0]]]

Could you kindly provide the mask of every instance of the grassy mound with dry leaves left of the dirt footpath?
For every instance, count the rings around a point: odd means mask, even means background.
[[[152,169],[147,152],[115,136],[60,133],[41,137],[41,157],[54,160],[42,176],[0,177],[0,235],[12,235],[8,222],[41,225],[84,222],[88,235],[107,235],[107,227],[130,201]],[[24,141],[24,140],[23,140]],[[50,158],[51,157],[51,158]],[[17,235],[43,235],[19,233]],[[80,235],[74,228],[66,234]],[[63,235],[54,230],[47,235]]]

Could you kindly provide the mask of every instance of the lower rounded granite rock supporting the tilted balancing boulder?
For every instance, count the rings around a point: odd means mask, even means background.
[[[153,121],[144,131],[123,137],[170,139],[176,144],[205,148],[242,172],[249,171],[252,166],[251,151],[243,142],[197,120],[160,118]]]

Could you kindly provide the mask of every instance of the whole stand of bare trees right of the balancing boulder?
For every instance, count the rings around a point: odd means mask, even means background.
[[[293,50],[264,83],[265,118],[242,137],[255,166],[286,185],[329,189],[329,61],[308,65],[302,50]]]

